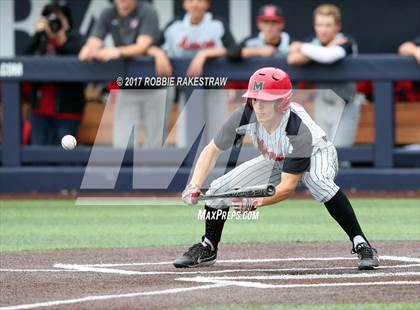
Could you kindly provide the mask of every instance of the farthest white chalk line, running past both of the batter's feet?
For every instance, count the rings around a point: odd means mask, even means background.
[[[390,256],[381,255],[381,260],[400,261],[405,263],[420,263],[420,258],[405,257],[405,256]],[[231,263],[271,263],[271,262],[300,262],[300,261],[332,261],[332,260],[357,260],[357,257],[293,257],[293,258],[245,258],[245,259],[221,259],[218,264],[231,264]],[[145,262],[145,263],[121,263],[121,264],[80,264],[80,266],[92,267],[127,267],[127,266],[154,266],[154,265],[172,265],[173,261],[165,262]]]

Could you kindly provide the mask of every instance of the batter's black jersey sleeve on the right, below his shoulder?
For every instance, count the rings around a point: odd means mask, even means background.
[[[309,171],[313,149],[312,134],[294,112],[290,112],[286,135],[290,141],[290,149],[284,159],[283,171],[292,174]]]

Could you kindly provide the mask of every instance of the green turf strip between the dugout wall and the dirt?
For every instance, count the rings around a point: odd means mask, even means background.
[[[352,202],[370,239],[420,240],[418,200]],[[203,233],[204,223],[197,219],[199,207],[179,202],[142,204],[75,206],[70,200],[1,201],[0,251],[190,245]],[[325,207],[313,200],[264,207],[254,221],[231,220],[223,236],[224,243],[344,240],[346,235]]]

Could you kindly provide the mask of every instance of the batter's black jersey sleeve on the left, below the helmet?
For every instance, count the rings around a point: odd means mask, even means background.
[[[241,141],[243,134],[237,133],[236,128],[255,121],[252,108],[247,104],[237,108],[219,129],[214,137],[214,143],[220,150],[227,150]]]

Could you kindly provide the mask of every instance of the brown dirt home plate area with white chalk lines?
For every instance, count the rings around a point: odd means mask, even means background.
[[[336,242],[221,245],[216,265],[186,270],[179,246],[1,253],[0,309],[420,302],[420,241],[375,246],[381,267],[363,272]]]

